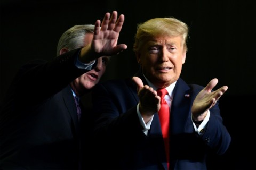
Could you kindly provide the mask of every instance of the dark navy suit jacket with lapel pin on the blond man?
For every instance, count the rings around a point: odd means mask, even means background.
[[[147,84],[141,71],[135,76]],[[199,136],[194,130],[191,105],[202,89],[181,78],[175,85],[170,116],[171,169],[206,169],[209,152],[223,154],[229,147],[231,138],[222,124],[218,103],[210,110],[204,134]],[[167,169],[158,114],[154,114],[146,136],[137,115],[137,87],[131,78],[97,84],[92,102],[97,143],[94,156],[100,161],[95,168]]]

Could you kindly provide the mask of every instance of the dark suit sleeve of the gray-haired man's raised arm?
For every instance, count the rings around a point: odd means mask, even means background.
[[[49,62],[33,60],[23,65],[14,78],[14,94],[33,96],[31,102],[40,103],[68,86],[72,80],[89,71],[78,69],[74,64],[80,49],[54,57]]]

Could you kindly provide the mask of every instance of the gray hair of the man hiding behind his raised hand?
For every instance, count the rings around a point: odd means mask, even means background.
[[[86,33],[93,33],[94,25],[75,25],[67,31],[65,31],[59,39],[57,46],[57,56],[60,55],[60,50],[62,48],[68,48],[68,50],[73,50],[76,48],[84,47],[84,36]]]

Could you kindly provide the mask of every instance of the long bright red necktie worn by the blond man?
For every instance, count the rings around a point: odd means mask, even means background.
[[[169,169],[169,121],[170,121],[170,108],[168,104],[166,103],[164,96],[168,94],[167,90],[165,88],[158,89],[157,95],[161,97],[161,108],[158,111],[159,120],[161,124],[162,129],[162,135],[164,139],[164,145],[165,145],[165,152],[166,152],[166,159],[167,159],[167,167]]]

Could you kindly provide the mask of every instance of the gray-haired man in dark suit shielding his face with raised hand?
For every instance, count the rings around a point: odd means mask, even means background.
[[[78,169],[82,97],[105,72],[124,15],[106,13],[102,24],[76,25],[61,36],[52,61],[35,60],[15,77],[1,106],[0,169]],[[79,108],[79,105],[78,105]],[[82,113],[82,117],[86,116]]]

